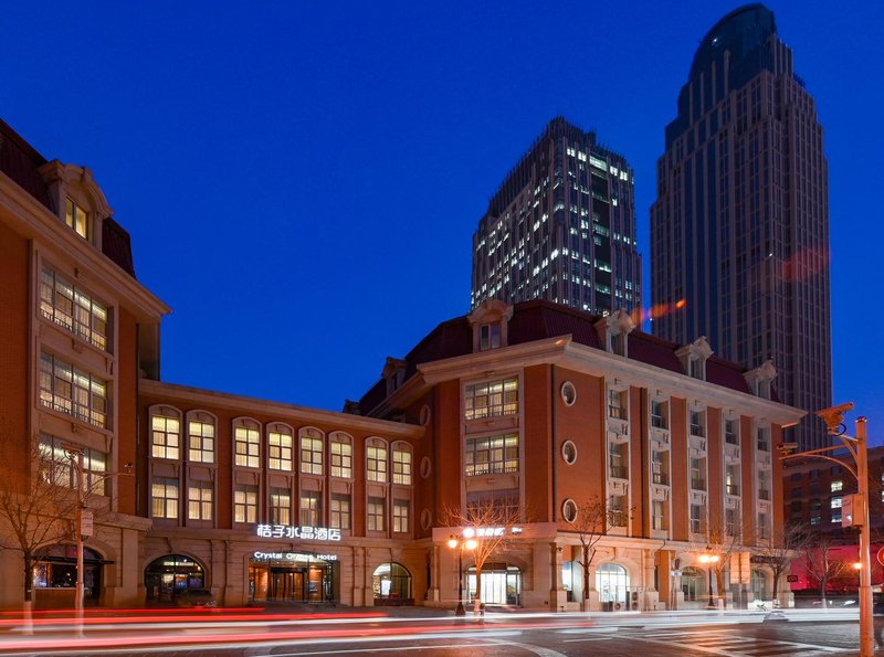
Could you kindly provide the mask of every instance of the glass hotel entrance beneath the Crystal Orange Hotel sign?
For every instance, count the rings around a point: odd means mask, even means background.
[[[250,601],[329,602],[335,595],[334,554],[255,552],[249,560]]]

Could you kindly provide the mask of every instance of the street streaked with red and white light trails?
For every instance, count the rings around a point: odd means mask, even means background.
[[[855,611],[685,612],[669,614],[493,613],[484,621],[412,608],[136,611],[88,615],[83,636],[70,617],[38,616],[33,634],[7,615],[3,655],[178,655],[286,657],[319,655],[855,655]],[[884,650],[881,653],[884,655]]]

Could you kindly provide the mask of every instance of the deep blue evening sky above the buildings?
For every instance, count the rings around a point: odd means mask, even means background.
[[[878,443],[884,10],[768,6],[824,127],[834,401]],[[635,169],[646,280],[663,128],[736,7],[10,2],[0,117],[94,171],[172,308],[164,380],[340,410],[469,311],[472,233],[554,116]]]

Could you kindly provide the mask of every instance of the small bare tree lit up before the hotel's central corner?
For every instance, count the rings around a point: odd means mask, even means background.
[[[482,569],[496,553],[506,549],[517,536],[513,530],[524,521],[517,506],[504,498],[488,497],[471,502],[464,513],[460,509],[446,508],[442,520],[449,527],[462,528],[461,539],[470,539],[475,544],[465,551],[473,558],[476,569],[476,595],[473,614],[480,615],[482,604]],[[463,576],[459,573],[459,576]]]

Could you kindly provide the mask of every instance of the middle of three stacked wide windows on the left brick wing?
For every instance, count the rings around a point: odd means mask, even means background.
[[[107,426],[107,382],[46,352],[40,357],[40,402],[95,426]]]

